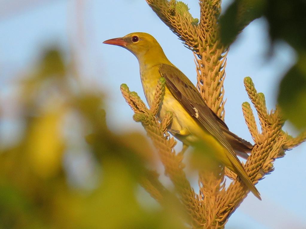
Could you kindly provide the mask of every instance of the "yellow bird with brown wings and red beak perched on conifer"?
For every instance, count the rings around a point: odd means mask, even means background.
[[[173,114],[168,131],[184,146],[204,141],[214,150],[214,158],[233,171],[258,198],[259,191],[244,170],[237,155],[248,157],[253,145],[229,131],[229,128],[206,104],[195,85],[166,57],[156,39],[147,33],[135,32],[103,42],[117,45],[134,54],[139,63],[140,79],[148,105],[154,100],[156,85],[161,77],[166,82],[159,112]]]

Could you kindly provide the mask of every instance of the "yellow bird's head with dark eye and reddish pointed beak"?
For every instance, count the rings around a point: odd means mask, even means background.
[[[162,50],[155,38],[147,33],[131,33],[122,38],[114,38],[104,41],[103,44],[118,45],[126,48],[132,52],[137,59],[143,57],[149,50]]]

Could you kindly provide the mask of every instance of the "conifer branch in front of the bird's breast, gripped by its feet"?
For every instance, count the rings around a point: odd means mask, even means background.
[[[159,107],[158,101],[160,91],[164,91],[165,84],[160,80],[155,92],[155,104]],[[163,86],[161,86],[163,85]],[[206,219],[203,219],[204,212],[203,207],[200,205],[199,197],[194,192],[189,181],[186,178],[183,168],[185,165],[182,163],[183,155],[176,154],[173,149],[176,145],[176,141],[173,137],[169,137],[165,134],[166,127],[171,123],[172,114],[168,112],[165,118],[160,123],[155,114],[151,113],[149,109],[144,105],[136,92],[129,91],[126,84],[121,84],[121,92],[125,100],[128,102],[132,110],[135,112],[133,119],[136,122],[141,122],[147,134],[153,141],[153,144],[158,149],[160,160],[165,167],[165,174],[170,177],[176,190],[181,196],[181,202],[185,206],[186,211],[190,215],[190,224],[199,227]],[[159,183],[158,183],[159,184]],[[158,185],[161,188],[160,184]],[[161,201],[164,196],[162,192],[156,187],[152,187],[152,182],[148,182],[147,178],[143,180],[143,187],[151,194],[157,201]],[[163,190],[163,188],[162,188]]]

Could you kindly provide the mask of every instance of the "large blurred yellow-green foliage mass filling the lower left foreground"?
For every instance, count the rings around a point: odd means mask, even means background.
[[[1,144],[0,228],[183,228],[173,203],[137,199],[147,138],[107,129],[102,92],[82,89],[60,50],[39,59],[17,83],[21,137]]]

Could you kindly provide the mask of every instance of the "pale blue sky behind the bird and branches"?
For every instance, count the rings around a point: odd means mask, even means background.
[[[19,9],[11,14],[6,10],[13,5],[12,1],[0,2],[4,5],[0,9],[0,101],[13,98],[13,76],[30,69],[29,64],[38,58],[41,48],[58,44],[65,50],[74,48],[78,54],[80,70],[85,75],[84,87],[98,87],[107,93],[110,102],[106,114],[110,129],[118,132],[143,131],[139,123],[133,122],[132,110],[119,90],[120,84],[126,83],[144,98],[137,60],[123,48],[102,44],[104,40],[136,31],[152,34],[168,59],[192,82],[196,82],[192,52],[184,48],[144,0],[43,1],[38,6]],[[193,16],[198,17],[197,1],[185,2]],[[228,3],[224,1],[223,7]],[[80,22],[82,26],[78,26]],[[265,94],[268,109],[272,109],[275,107],[278,83],[295,59],[293,50],[282,42],[276,46],[271,59],[264,57],[267,48],[267,23],[259,19],[238,37],[228,55],[225,120],[231,131],[249,141],[252,139],[241,111],[241,104],[249,101],[243,78],[252,77],[256,89]],[[8,107],[12,109],[12,105]],[[12,123],[13,120],[7,128],[12,128],[10,130],[14,132],[17,125]],[[286,130],[295,134],[288,125]],[[306,144],[278,159],[274,163],[275,171],[256,185],[263,200],[258,201],[249,195],[230,217],[227,228],[305,228],[305,161]]]

